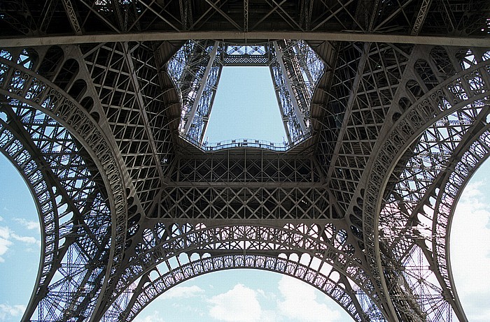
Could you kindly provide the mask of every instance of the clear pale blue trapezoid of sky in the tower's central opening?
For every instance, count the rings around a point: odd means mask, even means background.
[[[204,141],[232,139],[287,141],[269,67],[223,67]]]

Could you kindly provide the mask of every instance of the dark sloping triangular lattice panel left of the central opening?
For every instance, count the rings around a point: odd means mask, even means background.
[[[144,45],[82,47],[124,164],[144,210],[153,205],[169,159],[169,129],[153,54]],[[147,110],[151,114],[147,114]],[[157,126],[158,124],[158,126]],[[156,131],[152,131],[155,129]],[[160,162],[167,160],[164,164]]]

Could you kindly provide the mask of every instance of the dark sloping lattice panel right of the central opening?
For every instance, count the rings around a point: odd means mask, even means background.
[[[357,189],[379,138],[407,66],[411,47],[373,44],[357,50],[362,53],[346,102],[348,119],[344,119],[342,140],[337,142],[335,168],[330,170],[330,186],[344,209],[352,200],[353,191]]]

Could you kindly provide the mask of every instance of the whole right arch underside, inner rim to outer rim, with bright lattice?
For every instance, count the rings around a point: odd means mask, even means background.
[[[489,152],[488,57],[481,52],[468,56],[475,65],[465,64],[462,75],[438,85],[401,115],[379,150],[366,189],[365,200],[370,203],[365,203],[365,224],[373,222],[371,211],[380,209],[374,216],[378,227],[375,237],[368,237],[367,244],[377,247],[368,254],[377,257],[379,272],[384,272],[382,288],[388,293],[426,288],[420,292],[442,303],[424,303],[420,297],[419,307],[426,309],[417,311],[409,301],[393,301],[393,315],[398,314],[401,320],[449,319],[454,310],[458,319],[466,321],[449,267],[449,227],[458,196]],[[386,168],[390,160],[391,166]],[[401,175],[395,181],[386,171],[392,175],[401,171]],[[377,191],[384,191],[384,195],[370,198]],[[371,203],[374,200],[377,203]],[[417,269],[402,272],[397,263]],[[427,269],[429,266],[435,269]],[[403,283],[398,282],[400,276]],[[421,278],[431,281],[421,284]]]

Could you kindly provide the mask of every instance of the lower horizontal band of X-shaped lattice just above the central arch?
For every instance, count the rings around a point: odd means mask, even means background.
[[[162,191],[162,219],[330,219],[321,188],[172,187]]]

